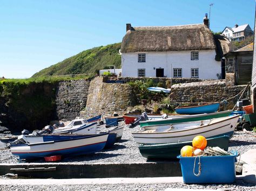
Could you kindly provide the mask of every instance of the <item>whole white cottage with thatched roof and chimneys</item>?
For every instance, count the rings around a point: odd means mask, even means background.
[[[126,24],[120,49],[122,76],[225,78],[222,58],[229,51],[228,43],[224,36],[213,36],[207,16],[204,24],[150,27]]]

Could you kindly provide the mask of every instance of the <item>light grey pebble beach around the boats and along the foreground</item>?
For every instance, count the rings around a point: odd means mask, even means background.
[[[105,131],[105,126],[100,126],[99,131]],[[134,142],[132,132],[139,130],[139,126],[133,129],[125,126],[123,137],[112,148],[101,152],[84,155],[79,157],[68,157],[61,162],[75,164],[96,164],[96,163],[133,163],[147,162],[147,159],[142,157],[139,152],[138,144]],[[0,137],[6,136],[0,134]],[[256,148],[255,133],[236,131],[230,140],[230,151],[238,151],[240,154],[247,152],[250,149]],[[0,145],[0,163],[29,163],[29,162],[44,162],[44,160],[23,161],[18,160],[18,157],[11,154],[9,148],[4,144]],[[1,179],[6,179],[2,176]],[[225,189],[225,190],[256,190],[256,186],[239,180],[232,185],[186,185],[185,183],[154,183],[147,184],[132,183],[132,184],[107,184],[107,185],[0,185],[0,190],[165,190],[167,188],[187,188],[187,189]]]

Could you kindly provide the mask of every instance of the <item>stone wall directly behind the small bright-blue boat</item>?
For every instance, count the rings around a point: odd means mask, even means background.
[[[170,100],[173,102],[221,102],[237,95],[246,86],[226,86],[225,80],[174,84]],[[242,98],[247,97],[247,91]],[[226,108],[233,109],[238,97],[227,101]]]

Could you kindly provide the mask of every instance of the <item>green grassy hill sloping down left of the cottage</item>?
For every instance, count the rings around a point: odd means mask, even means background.
[[[42,69],[32,77],[46,77],[68,74],[95,74],[97,70],[114,65],[121,68],[119,49],[121,43],[100,46],[80,52],[75,56]]]

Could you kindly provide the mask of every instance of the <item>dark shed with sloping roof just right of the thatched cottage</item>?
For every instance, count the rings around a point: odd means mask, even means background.
[[[234,84],[242,85],[252,81],[253,43],[225,54],[226,73],[233,73]]]

